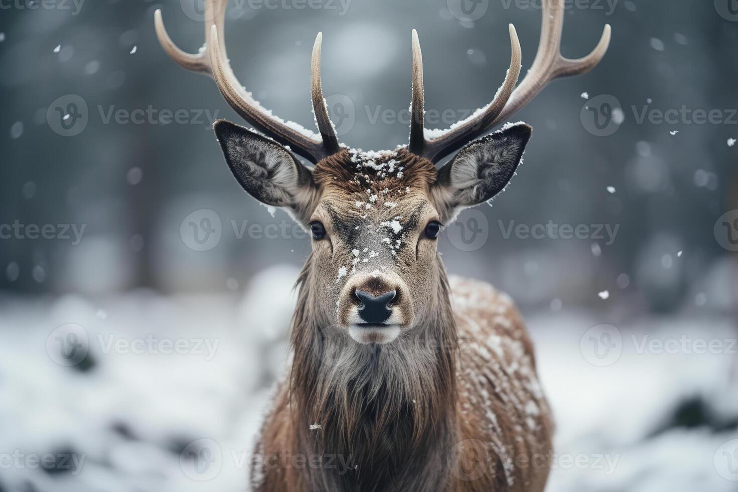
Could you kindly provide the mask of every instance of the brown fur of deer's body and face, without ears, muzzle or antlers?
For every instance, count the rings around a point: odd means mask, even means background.
[[[551,417],[531,342],[505,294],[449,283],[435,243],[420,236],[444,208],[436,176],[404,149],[342,150],[314,168],[314,214],[331,240],[314,244],[297,280],[294,360],[263,424],[256,453],[268,465],[252,475],[255,491],[543,490]],[[404,224],[399,246],[352,268],[357,241],[391,235],[365,224],[392,218]],[[338,266],[351,271],[336,277]],[[335,305],[351,274],[375,266],[404,280],[413,325],[390,343],[359,344],[336,324]]]

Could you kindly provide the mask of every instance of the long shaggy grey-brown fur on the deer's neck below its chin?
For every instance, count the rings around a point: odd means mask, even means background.
[[[315,308],[313,261],[308,258],[297,281],[292,326],[297,452],[337,457],[350,469],[307,467],[306,489],[446,490],[446,459],[458,434],[457,339],[440,258],[433,312],[387,345],[357,344],[323,319]]]

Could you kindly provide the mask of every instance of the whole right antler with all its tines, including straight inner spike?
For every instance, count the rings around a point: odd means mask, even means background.
[[[492,103],[475,111],[471,117],[456,122],[440,136],[426,139],[423,130],[423,75],[418,37],[413,31],[413,105],[410,124],[409,150],[438,162],[454,150],[461,148],[469,140],[485,133],[511,117],[528,104],[552,80],[569,75],[589,72],[600,62],[610,45],[610,24],[605,24],[599,43],[589,55],[570,60],[561,55],[561,35],[564,27],[564,0],[542,0],[543,20],[541,39],[536,58],[528,75],[514,91],[520,75],[520,44],[515,28],[510,24],[510,43],[512,55],[505,82]],[[418,75],[418,71],[421,72]]]

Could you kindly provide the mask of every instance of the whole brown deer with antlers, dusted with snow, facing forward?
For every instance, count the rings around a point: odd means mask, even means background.
[[[314,133],[273,115],[238,82],[224,42],[226,4],[207,0],[197,54],[173,43],[160,10],[156,35],[179,66],[212,77],[252,126],[213,125],[236,181],[261,204],[285,209],[311,241],[295,284],[289,368],[257,437],[250,486],[543,491],[554,419],[531,337],[507,294],[447,276],[438,236],[461,210],[506,189],[532,132],[508,119],[551,81],[593,69],[610,26],[589,55],[564,58],[564,0],[542,0],[538,51],[523,81],[517,84],[520,42],[509,24],[502,86],[445,131],[424,128],[413,30],[409,141],[363,151],[339,144],[331,123],[320,79],[323,35],[311,58]]]

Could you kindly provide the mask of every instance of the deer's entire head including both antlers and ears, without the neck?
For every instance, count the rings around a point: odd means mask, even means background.
[[[223,37],[226,3],[207,1],[206,43],[197,55],[173,44],[159,10],[156,34],[173,60],[213,77],[227,103],[266,135],[224,120],[215,123],[227,164],[244,190],[263,204],[283,207],[310,229],[313,252],[304,275],[314,291],[312,316],[360,344],[392,342],[435,316],[432,307],[440,300],[443,275],[439,230],[461,209],[505,189],[532,129],[520,122],[482,135],[552,80],[592,69],[610,42],[606,25],[590,55],[562,57],[563,0],[544,0],[539,49],[520,86],[516,89],[520,44],[510,25],[510,66],[492,102],[446,131],[425,131],[421,49],[413,30],[410,142],[395,150],[362,152],[339,145],[328,117],[320,85],[322,35],[315,40],[311,63],[311,99],[320,132],[313,134],[262,108],[236,80]],[[457,150],[436,169],[437,162]],[[295,153],[314,167],[303,165]]]

